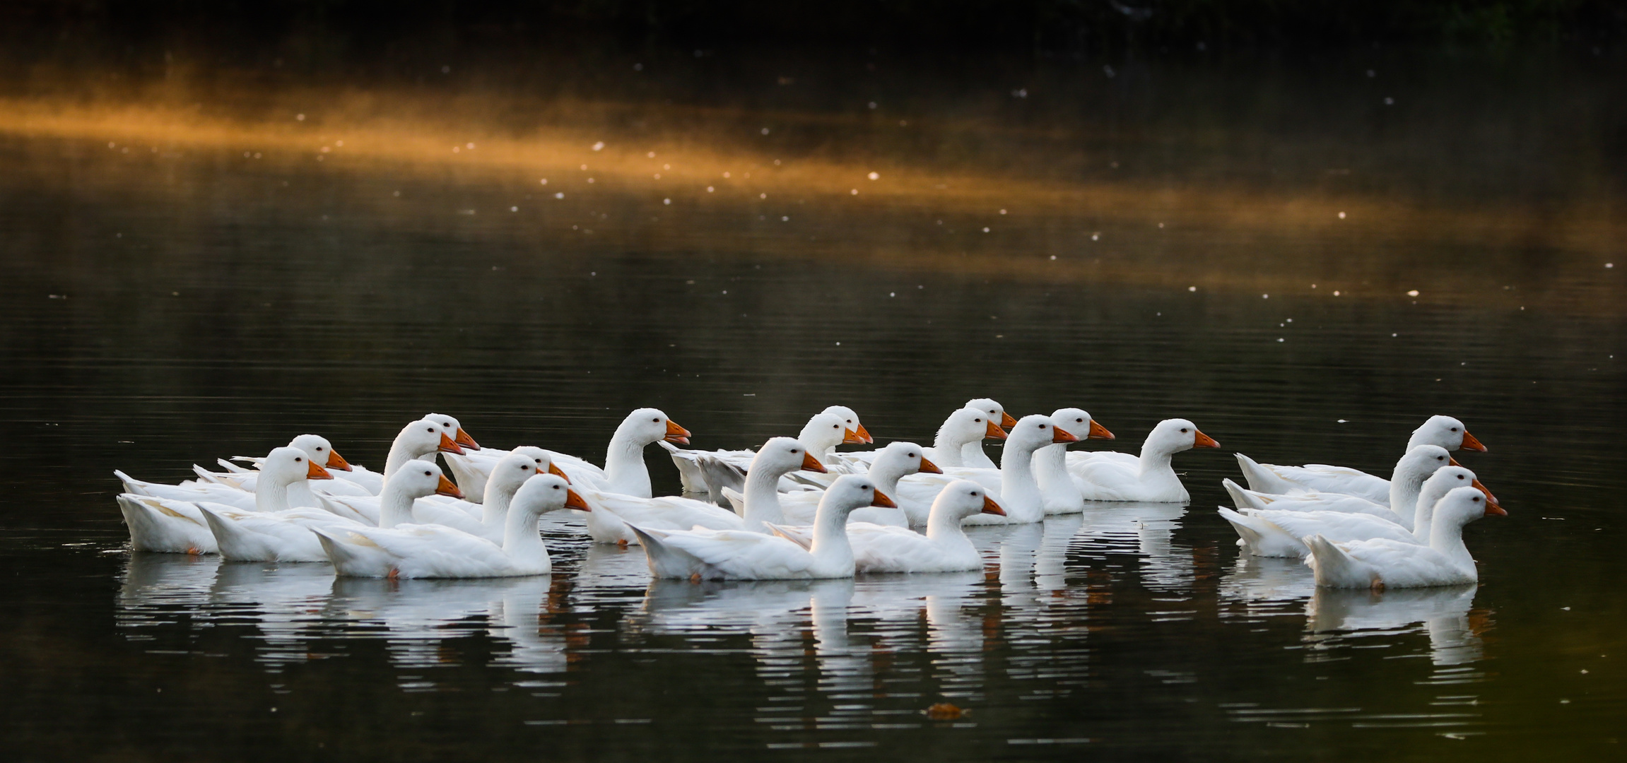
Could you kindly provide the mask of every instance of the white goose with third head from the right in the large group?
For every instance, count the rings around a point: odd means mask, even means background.
[[[1048,444],[1077,439],[1051,423],[1051,416],[1023,416],[1005,436],[999,470],[960,467],[945,469],[942,475],[909,475],[898,480],[898,493],[908,495],[909,501],[931,503],[950,482],[973,480],[989,491],[1005,514],[976,514],[966,517],[965,524],[1038,522],[1045,519],[1045,496],[1033,478],[1033,454]]]

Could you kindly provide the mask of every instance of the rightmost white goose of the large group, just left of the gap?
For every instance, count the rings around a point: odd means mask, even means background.
[[[1170,467],[1170,457],[1193,447],[1220,447],[1184,418],[1158,421],[1141,446],[1141,456],[1114,451],[1071,452],[1067,472],[1079,478],[1088,501],[1186,503],[1191,496]]]

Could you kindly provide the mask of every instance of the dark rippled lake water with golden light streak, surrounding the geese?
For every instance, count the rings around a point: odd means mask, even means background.
[[[1485,72],[1435,62],[1386,106],[1368,65],[656,93],[553,132],[11,101],[8,756],[1619,755],[1627,80],[1505,67],[1476,99]],[[770,120],[786,143],[727,133]],[[304,431],[381,467],[431,410],[599,460],[641,405],[747,447],[831,403],[924,443],[971,397],[1082,407],[1124,451],[1184,416],[1222,451],[1176,457],[1191,506],[822,582],[651,582],[555,519],[550,578],[335,581],[132,553],[112,499],[114,469]],[[1232,451],[1388,472],[1432,413],[1510,512],[1466,532],[1477,587],[1316,591],[1214,514]]]

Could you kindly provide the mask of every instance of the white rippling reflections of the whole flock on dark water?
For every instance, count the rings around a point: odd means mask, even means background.
[[[467,659],[447,644],[472,636],[493,644],[483,664],[511,670],[511,685],[535,698],[566,701],[581,674],[592,674],[597,662],[613,656],[742,656],[753,665],[755,687],[727,690],[755,696],[752,721],[766,732],[797,732],[814,740],[771,737],[781,739],[771,747],[831,739],[857,743],[841,732],[978,727],[975,714],[953,722],[923,717],[919,709],[934,701],[999,706],[1012,698],[1066,698],[1092,683],[1101,659],[1092,646],[1097,628],[1150,636],[1197,621],[1202,605],[1194,600],[1194,555],[1173,540],[1184,514],[1183,506],[1171,504],[1095,504],[1085,514],[1043,524],[971,529],[988,563],[983,573],[835,581],[651,579],[638,548],[584,545],[569,527],[576,521],[558,517],[547,521],[545,535],[563,556],[560,571],[542,578],[335,579],[322,565],[135,553],[124,573],[116,618],[132,641],[150,641],[155,630],[164,628],[247,628],[252,634],[242,638],[257,644],[254,659],[273,675],[316,659],[356,659],[337,644],[379,641],[387,662],[407,670],[394,678],[407,693],[446,690],[438,672]],[[1123,579],[1101,582],[1105,576]],[[1144,591],[1152,602],[1132,621],[1114,608],[1114,594],[1128,589]],[[1438,670],[1420,675],[1419,685],[1474,683],[1484,677],[1468,667],[1482,656],[1477,633],[1489,618],[1471,615],[1474,586],[1321,591],[1298,563],[1240,556],[1222,576],[1219,592],[1222,602],[1243,605],[1248,618],[1303,613],[1303,636],[1279,647],[1308,649],[1310,664],[1344,649],[1388,647],[1427,634]],[[587,636],[592,621],[617,623],[612,643]],[[532,677],[537,674],[560,678],[539,680]],[[1163,687],[1210,680],[1202,669],[1149,669],[1145,675]],[[1375,714],[1360,706],[1235,706],[1228,713],[1267,726],[1427,722],[1443,732],[1464,732],[1468,719],[1479,717]],[[569,717],[566,713],[527,722]]]

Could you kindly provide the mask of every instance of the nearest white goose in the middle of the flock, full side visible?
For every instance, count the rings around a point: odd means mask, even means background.
[[[747,530],[644,532],[635,527],[656,578],[784,581],[853,578],[848,514],[859,506],[892,506],[869,478],[846,475],[825,491],[810,548]]]

